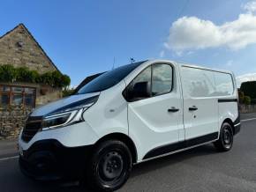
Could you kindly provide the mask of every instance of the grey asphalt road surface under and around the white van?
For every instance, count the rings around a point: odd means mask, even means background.
[[[244,115],[243,119],[253,117],[256,114]],[[20,174],[18,159],[0,158],[0,191],[80,192],[85,189],[77,183],[31,181]],[[242,122],[231,151],[220,153],[207,144],[139,164],[119,191],[256,191],[256,119]]]

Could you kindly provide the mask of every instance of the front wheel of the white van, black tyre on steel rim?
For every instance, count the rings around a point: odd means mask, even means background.
[[[87,166],[86,183],[96,191],[114,191],[128,180],[132,170],[132,154],[121,141],[102,142],[93,151]]]

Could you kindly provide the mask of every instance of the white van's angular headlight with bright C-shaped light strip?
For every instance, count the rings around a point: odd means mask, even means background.
[[[67,125],[84,122],[83,113],[92,107],[98,96],[90,100],[80,100],[68,106],[61,107],[43,117],[41,130],[62,128]]]

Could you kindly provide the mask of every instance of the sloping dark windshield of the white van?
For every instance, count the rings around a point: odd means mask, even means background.
[[[115,70],[110,70],[103,73],[98,78],[94,78],[92,81],[87,83],[87,85],[82,86],[77,94],[86,94],[90,92],[102,92],[103,90],[109,89],[111,86],[117,85],[121,80],[123,80],[132,70],[137,68],[141,63],[127,64],[118,67]]]

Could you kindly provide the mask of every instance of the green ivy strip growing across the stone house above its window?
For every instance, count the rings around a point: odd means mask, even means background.
[[[5,64],[0,65],[0,82],[26,82],[64,88],[71,84],[71,78],[57,70],[39,74],[26,67],[14,68],[11,64]]]

